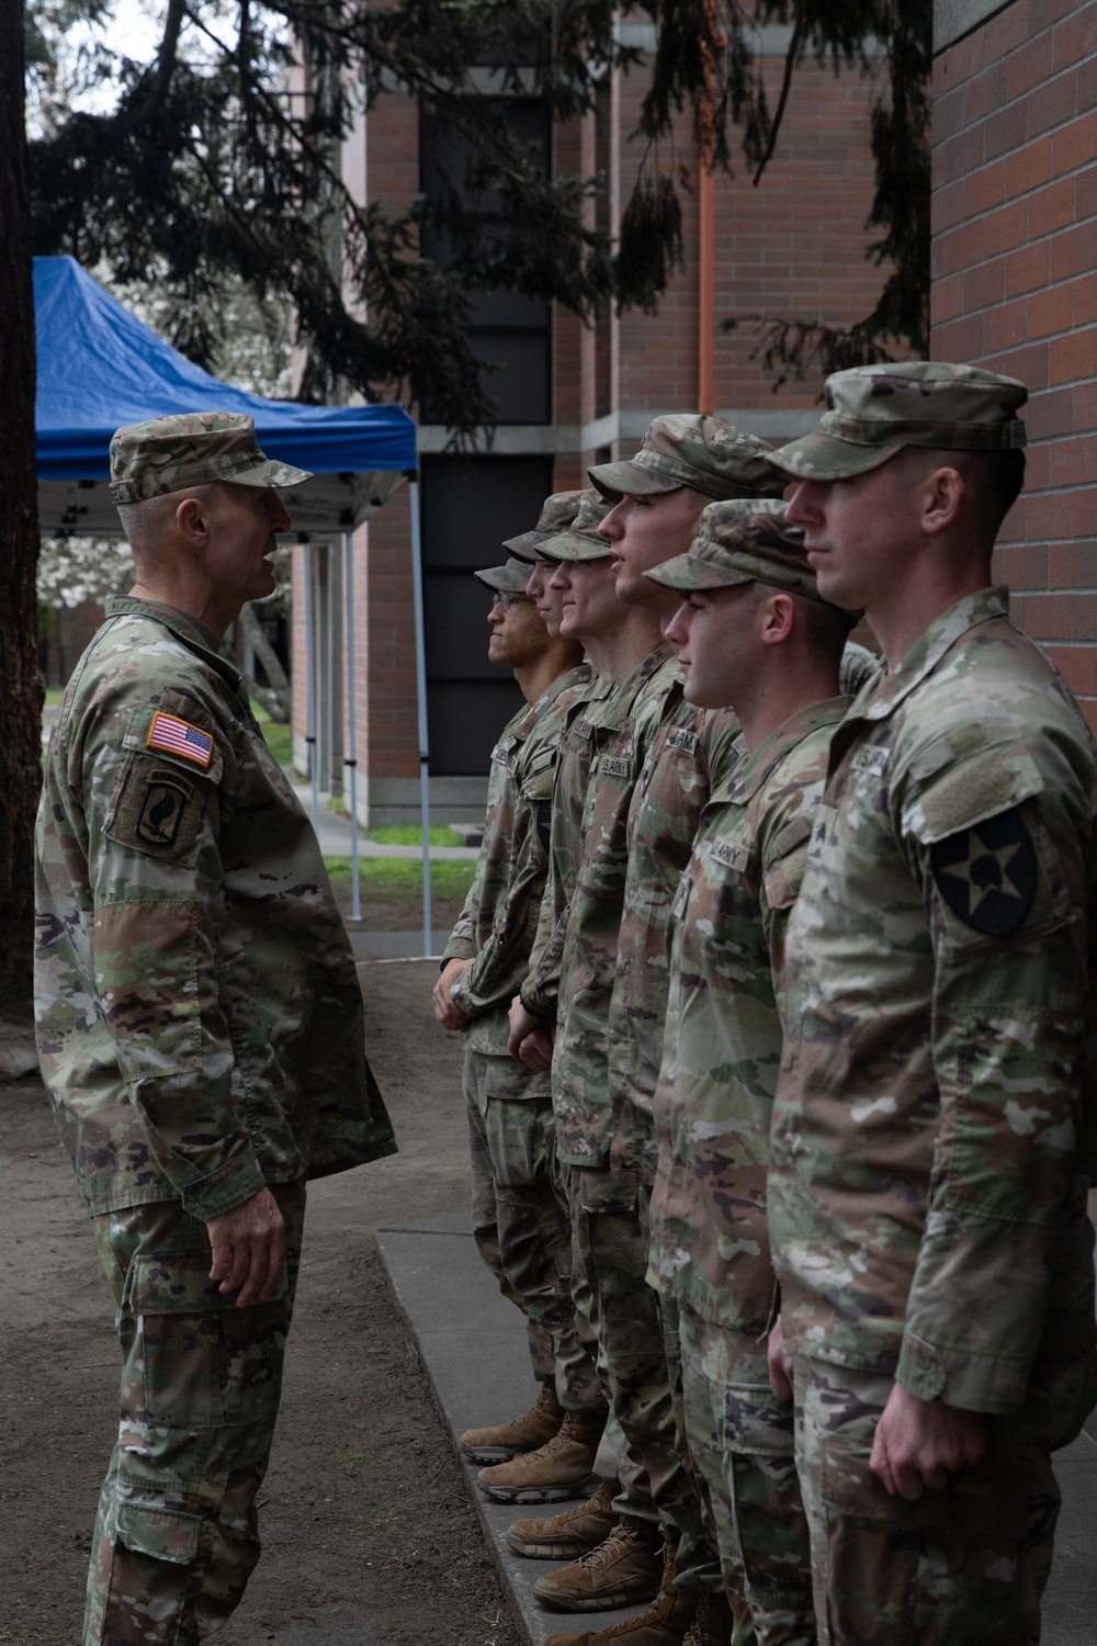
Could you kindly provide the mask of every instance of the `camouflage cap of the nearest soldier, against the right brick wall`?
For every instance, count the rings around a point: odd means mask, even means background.
[[[1015,451],[1025,444],[1018,418],[1025,384],[980,365],[903,360],[855,365],[827,377],[819,431],[770,453],[794,481],[845,481],[867,474],[903,446],[942,451]]]

